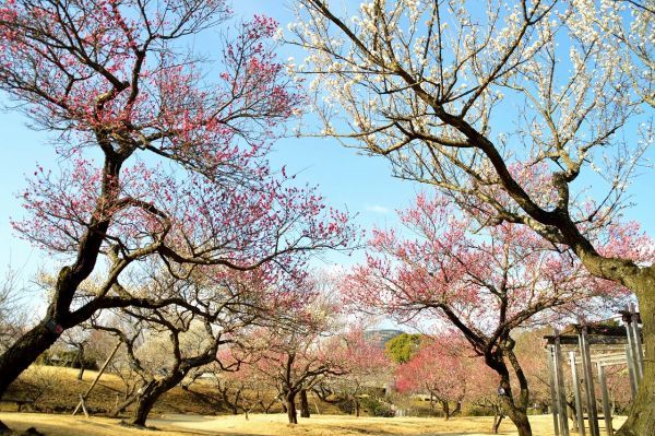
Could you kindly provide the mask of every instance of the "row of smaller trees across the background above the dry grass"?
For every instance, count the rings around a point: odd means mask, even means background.
[[[345,317],[352,310],[344,310],[341,295],[337,299],[326,295],[325,290],[334,290],[341,281],[332,279],[330,286],[326,281],[317,284],[321,291],[314,290],[302,307],[295,307],[294,317],[285,308],[277,318],[269,314],[229,333],[207,330],[202,320],[181,313],[159,311],[151,318],[129,311],[106,314],[84,329],[67,331],[43,363],[53,355],[70,355],[81,364],[81,378],[91,366],[86,362],[100,364],[120,342],[109,372],[122,381],[121,399],[109,414],[129,409],[131,422],[138,425],[145,424],[167,391],[179,386],[194,389],[201,382],[203,391],[214,392],[216,403],[246,416],[282,408],[289,423],[297,423],[298,402],[301,416],[310,415],[308,393],[356,415],[362,408],[381,415],[393,415],[397,409],[415,413],[412,398],[421,398],[429,401],[432,413],[445,419],[462,412],[464,404],[491,413],[492,429],[498,432],[505,416],[504,397],[510,393],[499,394],[500,375],[461,332],[451,328],[431,335],[401,334],[382,347],[374,334],[352,326]],[[476,319],[472,328],[479,330],[491,318]],[[511,387],[527,392],[525,413],[529,408],[546,412],[550,404],[544,333],[525,327],[512,332],[513,365],[523,372],[524,380],[512,378]],[[217,341],[223,341],[218,347]],[[207,349],[210,357],[204,358]],[[622,369],[610,374],[618,408],[629,402]],[[573,398],[569,406],[574,415]]]

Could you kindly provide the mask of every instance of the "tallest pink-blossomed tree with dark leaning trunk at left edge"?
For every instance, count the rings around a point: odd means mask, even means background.
[[[151,306],[119,281],[139,260],[178,276],[270,261],[291,272],[352,236],[345,214],[264,160],[303,98],[275,60],[277,24],[255,16],[226,38],[222,71],[189,51],[228,15],[223,0],[0,4],[0,89],[57,133],[63,162],[37,167],[14,227],[68,262],[47,316],[0,356],[0,393],[62,330],[102,308]],[[102,283],[85,290],[92,273]]]

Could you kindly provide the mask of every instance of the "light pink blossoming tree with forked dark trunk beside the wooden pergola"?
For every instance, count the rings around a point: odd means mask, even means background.
[[[415,239],[376,229],[366,263],[343,283],[345,297],[400,320],[429,315],[452,325],[498,374],[505,412],[521,435],[529,435],[528,382],[512,331],[571,314],[603,314],[611,303],[624,304],[630,292],[591,275],[529,227],[504,223],[479,229],[445,197],[421,195],[400,216]],[[603,252],[620,251],[635,261],[651,256],[642,249],[651,246],[647,238],[624,237],[634,232],[615,228]]]

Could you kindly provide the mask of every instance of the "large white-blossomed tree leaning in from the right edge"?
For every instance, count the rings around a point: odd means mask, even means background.
[[[627,207],[653,142],[652,2],[336,3],[298,0],[291,26],[309,52],[300,72],[322,91],[324,131],[440,188],[481,224],[529,226],[632,290],[648,364],[623,434],[654,433],[653,258],[604,255],[590,235]]]

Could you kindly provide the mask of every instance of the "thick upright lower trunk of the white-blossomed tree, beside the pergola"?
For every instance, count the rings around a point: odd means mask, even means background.
[[[647,272],[647,273],[646,273]],[[655,271],[651,268],[632,286],[643,322],[644,377],[617,436],[655,435]]]

